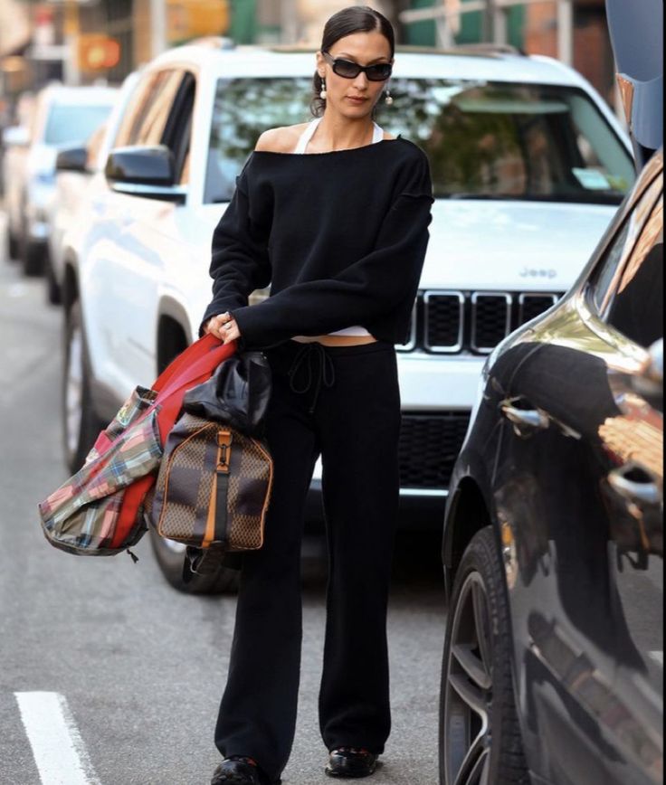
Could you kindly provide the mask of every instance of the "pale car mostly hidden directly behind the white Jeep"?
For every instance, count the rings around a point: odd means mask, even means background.
[[[123,81],[109,118],[92,133],[86,144],[62,147],[55,158],[55,187],[46,208],[48,253],[44,258],[47,298],[53,305],[59,304],[62,298],[63,237],[71,223],[77,220],[81,204],[87,198],[91,175],[100,173],[106,165],[109,148],[138,74],[139,71],[132,71]]]

